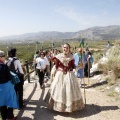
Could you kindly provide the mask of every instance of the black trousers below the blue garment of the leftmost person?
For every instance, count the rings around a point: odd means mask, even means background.
[[[13,108],[9,108],[7,106],[2,106],[2,107],[0,107],[0,111],[1,111],[2,120],[14,118]]]

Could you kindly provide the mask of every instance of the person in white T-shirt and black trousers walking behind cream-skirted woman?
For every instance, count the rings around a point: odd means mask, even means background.
[[[42,89],[43,83],[44,83],[44,75],[45,75],[45,70],[47,68],[47,60],[45,58],[45,53],[40,52],[39,57],[36,58],[36,69],[38,73],[38,78],[39,78],[39,83],[40,83],[40,88]]]

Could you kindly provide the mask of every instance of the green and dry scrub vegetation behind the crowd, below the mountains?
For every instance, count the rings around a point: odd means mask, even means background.
[[[75,47],[79,47],[79,41],[54,41],[54,48],[61,50],[61,45],[63,43],[69,43],[71,45],[71,51],[75,52]],[[90,50],[92,51],[94,63],[99,63],[99,60],[106,53],[106,40],[88,40],[85,41],[88,43]],[[112,80],[117,80],[120,77],[120,40],[110,41],[110,52],[108,55],[108,62],[105,64],[99,63],[99,70],[104,74],[111,73]],[[114,46],[114,47],[112,47]],[[10,45],[0,45],[0,49],[4,50],[7,54],[8,47],[17,48],[17,57],[20,59],[21,63],[25,63],[26,60],[29,62],[33,60],[33,56],[36,50],[51,50],[52,44],[51,41],[44,41],[41,44],[35,43],[25,43],[25,44],[10,44]]]

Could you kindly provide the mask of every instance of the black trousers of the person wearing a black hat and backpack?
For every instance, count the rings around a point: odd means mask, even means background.
[[[23,85],[24,85],[24,76],[20,76],[20,83],[15,85],[15,91],[18,96],[19,107],[23,107]]]

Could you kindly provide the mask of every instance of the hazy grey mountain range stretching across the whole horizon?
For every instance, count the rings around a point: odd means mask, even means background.
[[[80,39],[88,40],[116,40],[120,39],[120,25],[111,25],[106,27],[91,27],[77,32],[36,32],[26,33],[21,35],[12,35],[0,37],[0,42],[13,41],[36,41],[36,40],[51,40],[51,39]]]

